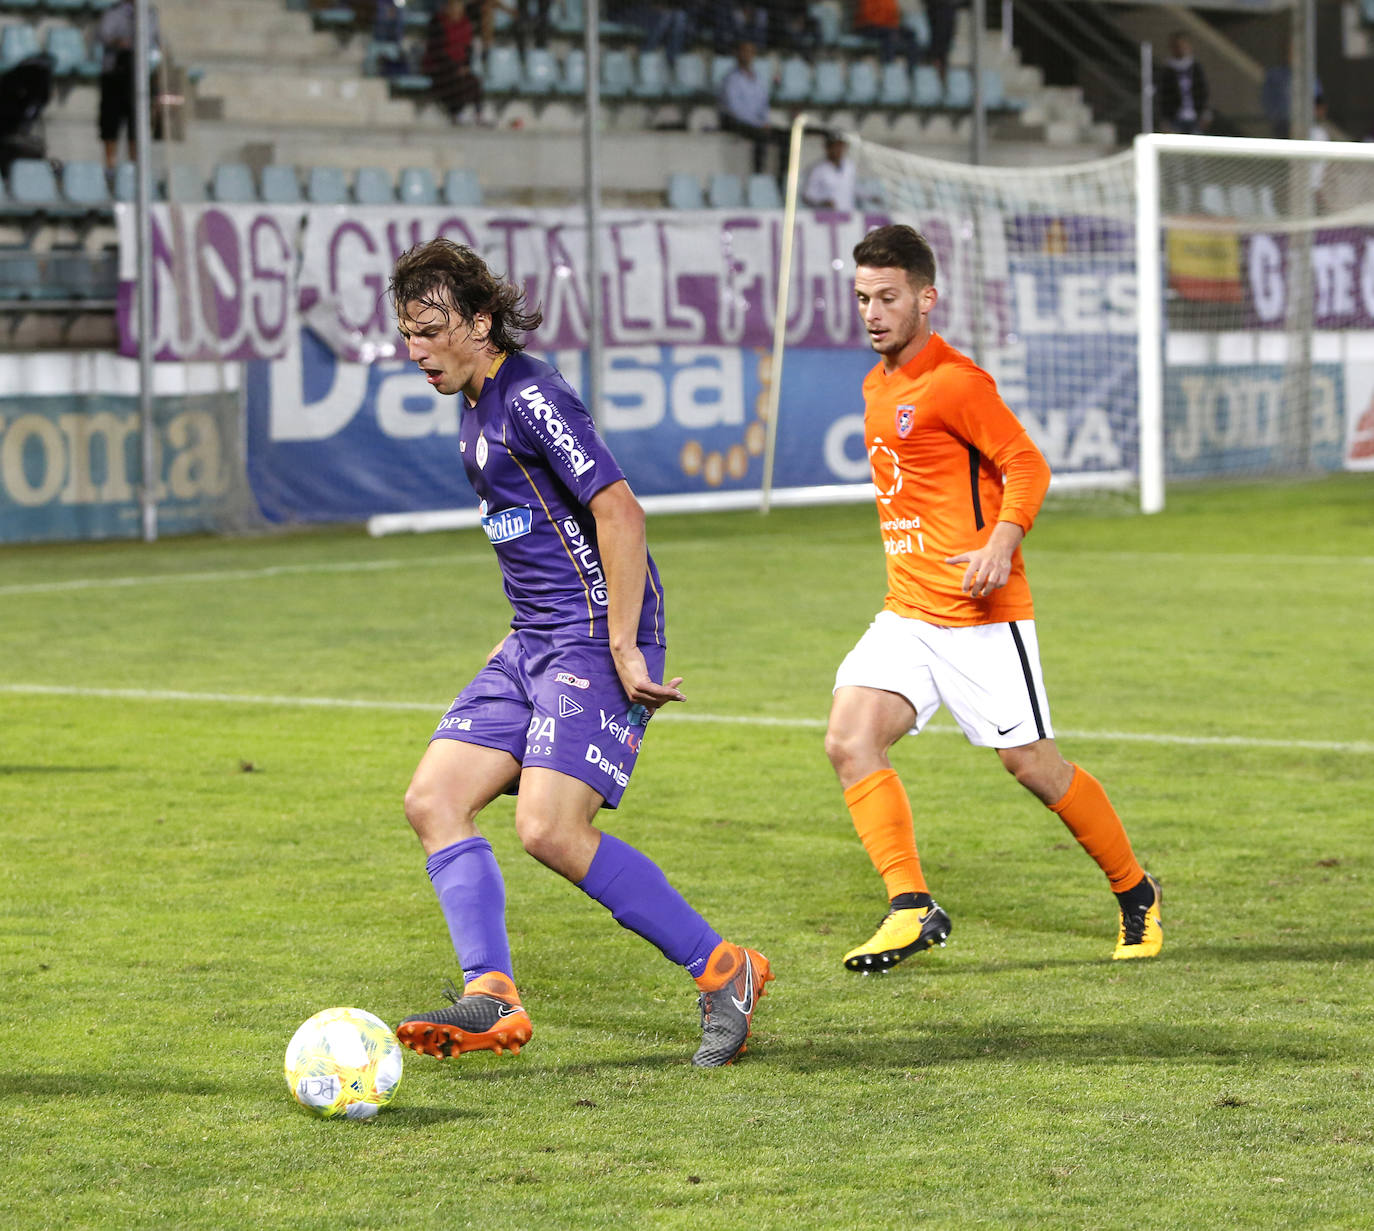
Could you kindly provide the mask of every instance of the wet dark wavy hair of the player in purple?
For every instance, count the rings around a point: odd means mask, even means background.
[[[523,350],[519,334],[539,328],[544,319],[539,308],[525,308],[522,287],[492,273],[486,261],[452,239],[430,239],[401,253],[386,293],[397,312],[419,304],[438,309],[447,319],[458,309],[469,326],[478,312],[489,313],[488,341],[508,354]]]

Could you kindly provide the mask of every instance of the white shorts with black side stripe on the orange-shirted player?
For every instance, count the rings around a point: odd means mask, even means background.
[[[1033,620],[943,628],[879,611],[835,672],[835,688],[851,686],[905,697],[911,735],[943,702],[978,747],[1054,738]]]

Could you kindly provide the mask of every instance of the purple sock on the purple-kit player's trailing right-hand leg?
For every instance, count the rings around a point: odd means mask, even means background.
[[[577,888],[606,907],[621,927],[642,936],[669,962],[686,966],[694,978],[720,944],[720,936],[668,883],[658,864],[610,834],[602,834]]]

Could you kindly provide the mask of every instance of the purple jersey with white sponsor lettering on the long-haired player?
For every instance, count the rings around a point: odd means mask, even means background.
[[[459,449],[515,611],[511,628],[609,642],[606,572],[587,506],[625,475],[581,398],[550,364],[508,354],[464,409]],[[638,640],[665,643],[653,558]]]

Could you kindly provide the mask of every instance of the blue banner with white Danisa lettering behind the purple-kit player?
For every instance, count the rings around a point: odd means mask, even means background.
[[[573,387],[585,382],[584,350],[532,353]],[[767,350],[617,346],[605,361],[602,434],[636,493],[760,486]],[[872,361],[857,346],[789,353],[776,486],[868,479],[861,385]],[[477,507],[458,452],[459,398],[405,360],[349,363],[306,330],[287,359],[247,365],[246,405],[249,482],[273,521]]]

